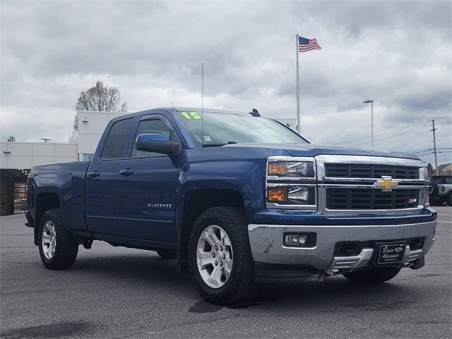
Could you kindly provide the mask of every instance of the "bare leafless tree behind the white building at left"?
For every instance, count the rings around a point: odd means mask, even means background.
[[[88,88],[80,93],[76,103],[77,111],[95,112],[127,112],[127,103],[121,105],[121,94],[116,86],[104,85],[99,80],[92,88]],[[70,143],[78,142],[78,114],[73,121],[73,131],[69,137]]]

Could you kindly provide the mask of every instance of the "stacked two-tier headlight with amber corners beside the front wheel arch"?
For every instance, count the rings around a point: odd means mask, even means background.
[[[314,158],[268,158],[266,176],[268,208],[316,210],[316,194]]]

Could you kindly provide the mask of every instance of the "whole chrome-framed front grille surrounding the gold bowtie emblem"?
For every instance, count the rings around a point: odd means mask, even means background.
[[[318,208],[325,214],[415,214],[420,213],[427,203],[427,177],[421,160],[318,155],[316,166],[319,180]],[[338,177],[338,169],[342,170],[343,177]],[[389,173],[396,175],[393,179],[398,185],[383,191],[375,182]],[[381,177],[377,177],[377,174],[381,174]]]

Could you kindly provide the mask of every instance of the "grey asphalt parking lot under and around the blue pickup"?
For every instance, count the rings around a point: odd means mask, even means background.
[[[2,338],[451,338],[452,208],[420,270],[359,286],[266,285],[254,302],[206,304],[155,252],[95,242],[46,270],[23,215],[0,218]]]

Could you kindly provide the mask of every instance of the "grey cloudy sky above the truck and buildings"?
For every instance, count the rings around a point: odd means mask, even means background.
[[[452,153],[451,1],[1,1],[1,141],[68,141],[102,79],[129,112],[205,107],[295,119],[313,143]],[[431,154],[422,160],[433,162]]]

